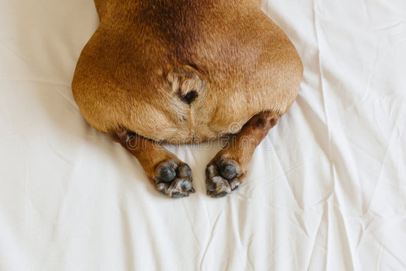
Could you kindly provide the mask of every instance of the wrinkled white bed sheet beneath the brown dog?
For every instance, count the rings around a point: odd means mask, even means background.
[[[304,63],[244,184],[156,192],[70,83],[91,0],[0,0],[0,270],[406,270],[406,2],[262,1]]]

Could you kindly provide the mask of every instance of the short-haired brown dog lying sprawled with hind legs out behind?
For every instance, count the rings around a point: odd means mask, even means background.
[[[256,146],[289,109],[303,74],[285,33],[255,0],[95,0],[100,25],[72,90],[87,120],[144,167],[157,190],[194,192],[190,168],[158,142],[235,134],[209,163],[208,194],[242,182]]]

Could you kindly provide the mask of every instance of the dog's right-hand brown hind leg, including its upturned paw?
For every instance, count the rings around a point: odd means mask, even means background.
[[[222,197],[237,189],[243,181],[255,148],[274,127],[279,114],[263,112],[253,116],[241,131],[228,141],[206,168],[207,194]]]

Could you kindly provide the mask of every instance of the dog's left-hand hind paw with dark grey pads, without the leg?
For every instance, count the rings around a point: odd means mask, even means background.
[[[167,160],[159,163],[155,168],[153,178],[156,189],[170,197],[187,197],[194,193],[192,187],[192,172],[183,162]]]

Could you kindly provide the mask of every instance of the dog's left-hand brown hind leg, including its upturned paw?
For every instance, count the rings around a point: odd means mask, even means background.
[[[158,191],[170,197],[194,193],[190,167],[162,145],[124,128],[118,128],[109,135],[137,157]]]

